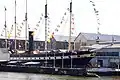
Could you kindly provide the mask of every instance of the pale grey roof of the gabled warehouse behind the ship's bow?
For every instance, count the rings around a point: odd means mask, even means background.
[[[97,37],[99,37],[99,40],[101,40],[101,41],[112,41],[112,40],[120,41],[120,36],[119,35],[96,34],[96,33],[79,33],[79,35],[81,35],[81,34],[84,35],[84,37],[87,40],[96,40]]]

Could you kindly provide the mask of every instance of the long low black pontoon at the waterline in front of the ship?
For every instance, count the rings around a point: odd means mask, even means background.
[[[0,71],[4,72],[21,72],[36,74],[53,74],[53,75],[70,75],[70,76],[86,76],[85,68],[50,68],[50,67],[33,67],[33,66],[0,66]]]

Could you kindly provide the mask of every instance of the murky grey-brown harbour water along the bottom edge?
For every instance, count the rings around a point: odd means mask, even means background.
[[[72,77],[46,74],[0,72],[0,80],[120,80],[120,77]]]

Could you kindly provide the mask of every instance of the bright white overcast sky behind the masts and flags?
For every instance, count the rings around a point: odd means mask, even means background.
[[[20,28],[22,26],[20,36],[18,38],[25,38],[25,1],[26,0],[16,0],[17,2],[17,26]],[[49,31],[54,32],[55,35],[69,35],[69,8],[70,0],[47,0],[48,1],[48,16],[49,16]],[[93,10],[93,6],[89,0],[72,0],[73,2],[73,18],[74,28],[72,35],[77,36],[80,32],[86,33],[97,33],[97,27],[99,27],[99,32],[101,34],[113,34],[120,35],[120,0],[92,0],[95,3],[96,10],[99,11],[99,19],[101,25],[97,24],[96,15]],[[5,12],[4,6],[7,8],[6,11],[6,21],[7,30],[11,33],[10,38],[14,38],[14,16],[15,16],[15,0],[1,0],[0,2],[0,33],[4,37],[4,24],[5,24]],[[28,24],[30,30],[34,30],[34,38],[39,40],[44,40],[44,6],[45,0],[28,0],[27,12],[28,12]],[[66,12],[66,15],[64,13]],[[43,14],[43,16],[41,16]],[[62,17],[64,16],[63,24],[60,24]],[[41,18],[42,19],[41,19]],[[38,23],[40,21],[40,23]],[[23,23],[23,24],[21,24]],[[39,26],[36,26],[36,25]],[[11,26],[13,25],[13,29]],[[60,25],[58,28],[57,25]],[[58,28],[56,32],[55,29]],[[17,32],[18,33],[18,32]]]

